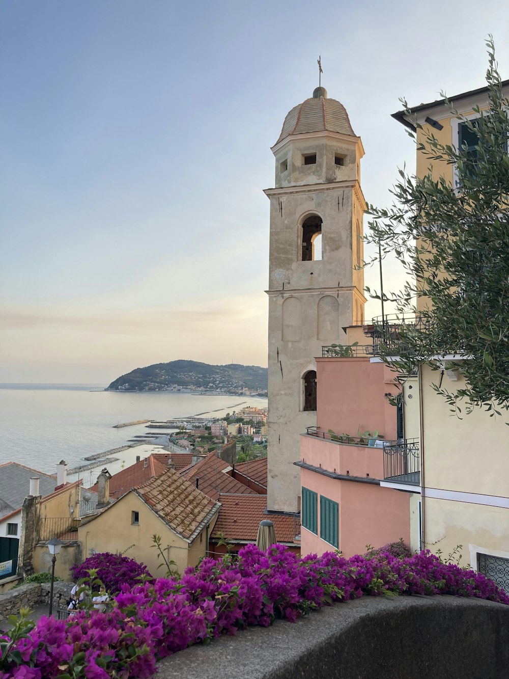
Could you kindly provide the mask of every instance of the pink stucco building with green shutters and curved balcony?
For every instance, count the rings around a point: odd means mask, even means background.
[[[366,545],[410,542],[409,493],[381,485],[388,475],[383,441],[402,436],[398,409],[391,405],[400,384],[383,363],[359,354],[316,359],[318,426],[301,436],[296,463],[303,555],[340,549],[350,557],[364,553]],[[371,437],[361,438],[366,430]]]

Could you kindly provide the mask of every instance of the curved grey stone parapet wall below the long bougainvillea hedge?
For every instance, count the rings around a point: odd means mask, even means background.
[[[508,676],[509,606],[362,597],[268,629],[250,627],[159,663],[158,679],[466,679]]]

